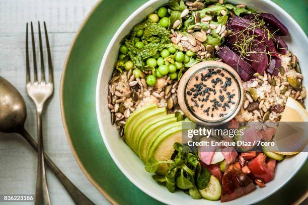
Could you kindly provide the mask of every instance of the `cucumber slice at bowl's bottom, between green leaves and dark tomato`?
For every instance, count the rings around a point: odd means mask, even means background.
[[[219,180],[211,175],[210,181],[202,190],[199,190],[201,196],[207,200],[218,200],[221,196],[221,186]]]

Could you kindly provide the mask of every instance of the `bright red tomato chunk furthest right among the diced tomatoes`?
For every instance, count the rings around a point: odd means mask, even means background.
[[[260,153],[256,158],[248,162],[247,166],[253,178],[260,178],[264,183],[267,183],[274,178],[276,160],[270,159],[269,162],[266,163],[265,159],[265,154]]]

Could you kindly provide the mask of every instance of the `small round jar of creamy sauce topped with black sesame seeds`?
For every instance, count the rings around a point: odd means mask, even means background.
[[[230,66],[203,61],[189,68],[178,87],[181,110],[203,126],[218,126],[232,120],[244,100],[243,83]]]

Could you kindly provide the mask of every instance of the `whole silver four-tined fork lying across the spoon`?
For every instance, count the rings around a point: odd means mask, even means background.
[[[43,132],[42,132],[42,113],[44,110],[44,104],[46,100],[53,93],[53,69],[51,64],[50,47],[47,36],[46,24],[44,22],[47,56],[48,56],[48,82],[45,80],[44,58],[43,58],[43,46],[40,22],[38,23],[39,34],[39,46],[40,46],[40,59],[41,59],[41,80],[38,81],[37,66],[36,66],[36,53],[34,43],[33,25],[31,22],[31,38],[32,38],[32,52],[33,52],[33,83],[30,80],[30,63],[29,63],[29,48],[28,48],[28,23],[26,28],[26,87],[27,93],[35,103],[36,118],[37,118],[37,134],[38,134],[38,160],[37,160],[37,178],[36,178],[36,190],[35,190],[35,204],[50,204],[50,197],[48,191],[48,185],[46,180],[45,162],[44,162],[44,148],[43,148]]]

